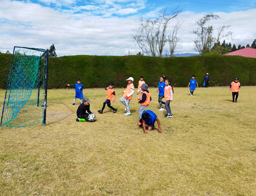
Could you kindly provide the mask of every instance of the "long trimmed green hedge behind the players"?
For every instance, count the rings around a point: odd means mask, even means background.
[[[11,64],[11,55],[0,53],[0,87],[5,88]],[[142,75],[150,86],[157,86],[159,77],[165,75],[177,87],[188,85],[195,75],[202,85],[206,72],[210,86],[229,85],[239,77],[241,85],[256,85],[256,58],[242,56],[204,55],[191,57],[158,58],[148,56],[90,56],[76,55],[49,58],[48,88],[67,87],[80,78],[87,87],[126,87],[128,77],[135,86]]]

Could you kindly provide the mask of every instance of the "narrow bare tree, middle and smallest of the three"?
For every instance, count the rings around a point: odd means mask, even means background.
[[[178,30],[180,30],[182,24],[183,24],[183,22],[176,23],[175,26],[173,27],[173,29],[171,30],[171,33],[167,37],[170,57],[173,56],[174,51],[175,51],[176,46],[177,46],[177,43],[181,40],[181,38],[178,37]]]

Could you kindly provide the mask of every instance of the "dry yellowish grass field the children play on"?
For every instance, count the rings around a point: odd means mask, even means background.
[[[46,126],[0,127],[0,195],[256,195],[255,86],[242,86],[237,103],[229,87],[197,88],[193,97],[174,88],[168,119],[149,88],[148,109],[163,130],[149,134],[137,126],[136,95],[124,116],[124,89],[115,90],[115,114],[97,112],[103,89],[84,90],[94,122],[75,121],[74,89],[52,89]]]

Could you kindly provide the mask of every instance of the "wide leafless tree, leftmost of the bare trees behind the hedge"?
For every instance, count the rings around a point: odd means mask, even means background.
[[[133,38],[139,48],[149,56],[162,57],[164,46],[167,42],[167,27],[171,19],[182,13],[182,9],[176,7],[171,11],[163,10],[158,14],[159,19],[143,20],[140,18],[139,28],[133,29],[136,33]]]

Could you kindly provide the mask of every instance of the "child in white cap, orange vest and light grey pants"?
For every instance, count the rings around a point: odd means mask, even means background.
[[[126,113],[124,115],[128,116],[131,115],[130,113],[130,100],[132,100],[132,94],[134,93],[134,85],[133,85],[133,77],[129,77],[128,79],[126,79],[128,81],[128,85],[126,87],[126,90],[122,92],[122,94],[124,94],[124,96],[122,96],[122,98],[120,99],[120,101],[126,106]]]

